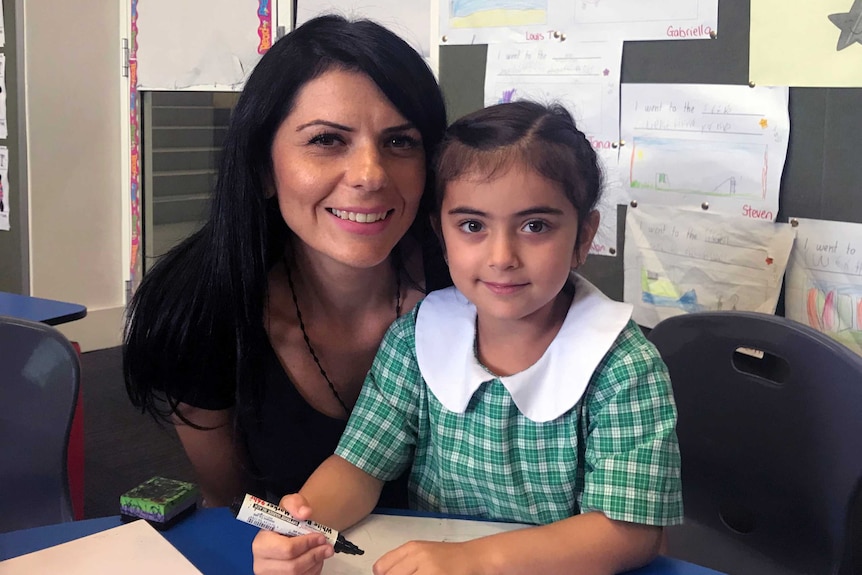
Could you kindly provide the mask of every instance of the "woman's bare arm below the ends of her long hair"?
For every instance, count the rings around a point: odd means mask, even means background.
[[[205,429],[196,429],[176,414],[172,420],[186,455],[194,467],[207,507],[225,507],[241,496],[249,486],[243,471],[244,454],[234,437],[233,409],[200,409],[181,403],[179,412],[188,421]]]

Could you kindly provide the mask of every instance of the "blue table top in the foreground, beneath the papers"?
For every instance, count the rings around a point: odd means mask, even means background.
[[[98,533],[121,524],[119,516],[61,523],[0,534],[0,561]],[[257,528],[227,508],[198,509],[163,532],[204,575],[251,575],[251,541]],[[685,561],[659,557],[629,575],[722,575]]]

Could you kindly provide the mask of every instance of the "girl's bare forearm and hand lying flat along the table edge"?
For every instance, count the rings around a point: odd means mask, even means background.
[[[411,541],[381,557],[374,574],[612,575],[650,562],[661,533],[590,512],[465,543]]]

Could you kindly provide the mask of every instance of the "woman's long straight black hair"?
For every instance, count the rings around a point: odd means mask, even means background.
[[[434,75],[406,42],[374,22],[306,22],[276,42],[248,78],[207,222],[146,274],[129,304],[123,371],[142,411],[167,418],[180,401],[203,406],[196,396],[206,401],[234,389],[238,405],[258,405],[267,274],[290,241],[276,198],[266,199],[274,182],[272,142],[302,87],[333,69],[367,75],[421,133],[428,181],[408,234],[423,247],[436,245],[431,162],[446,110]]]

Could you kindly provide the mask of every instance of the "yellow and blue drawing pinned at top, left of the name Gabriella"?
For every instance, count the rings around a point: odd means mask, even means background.
[[[548,0],[451,0],[452,28],[492,28],[545,24]]]

